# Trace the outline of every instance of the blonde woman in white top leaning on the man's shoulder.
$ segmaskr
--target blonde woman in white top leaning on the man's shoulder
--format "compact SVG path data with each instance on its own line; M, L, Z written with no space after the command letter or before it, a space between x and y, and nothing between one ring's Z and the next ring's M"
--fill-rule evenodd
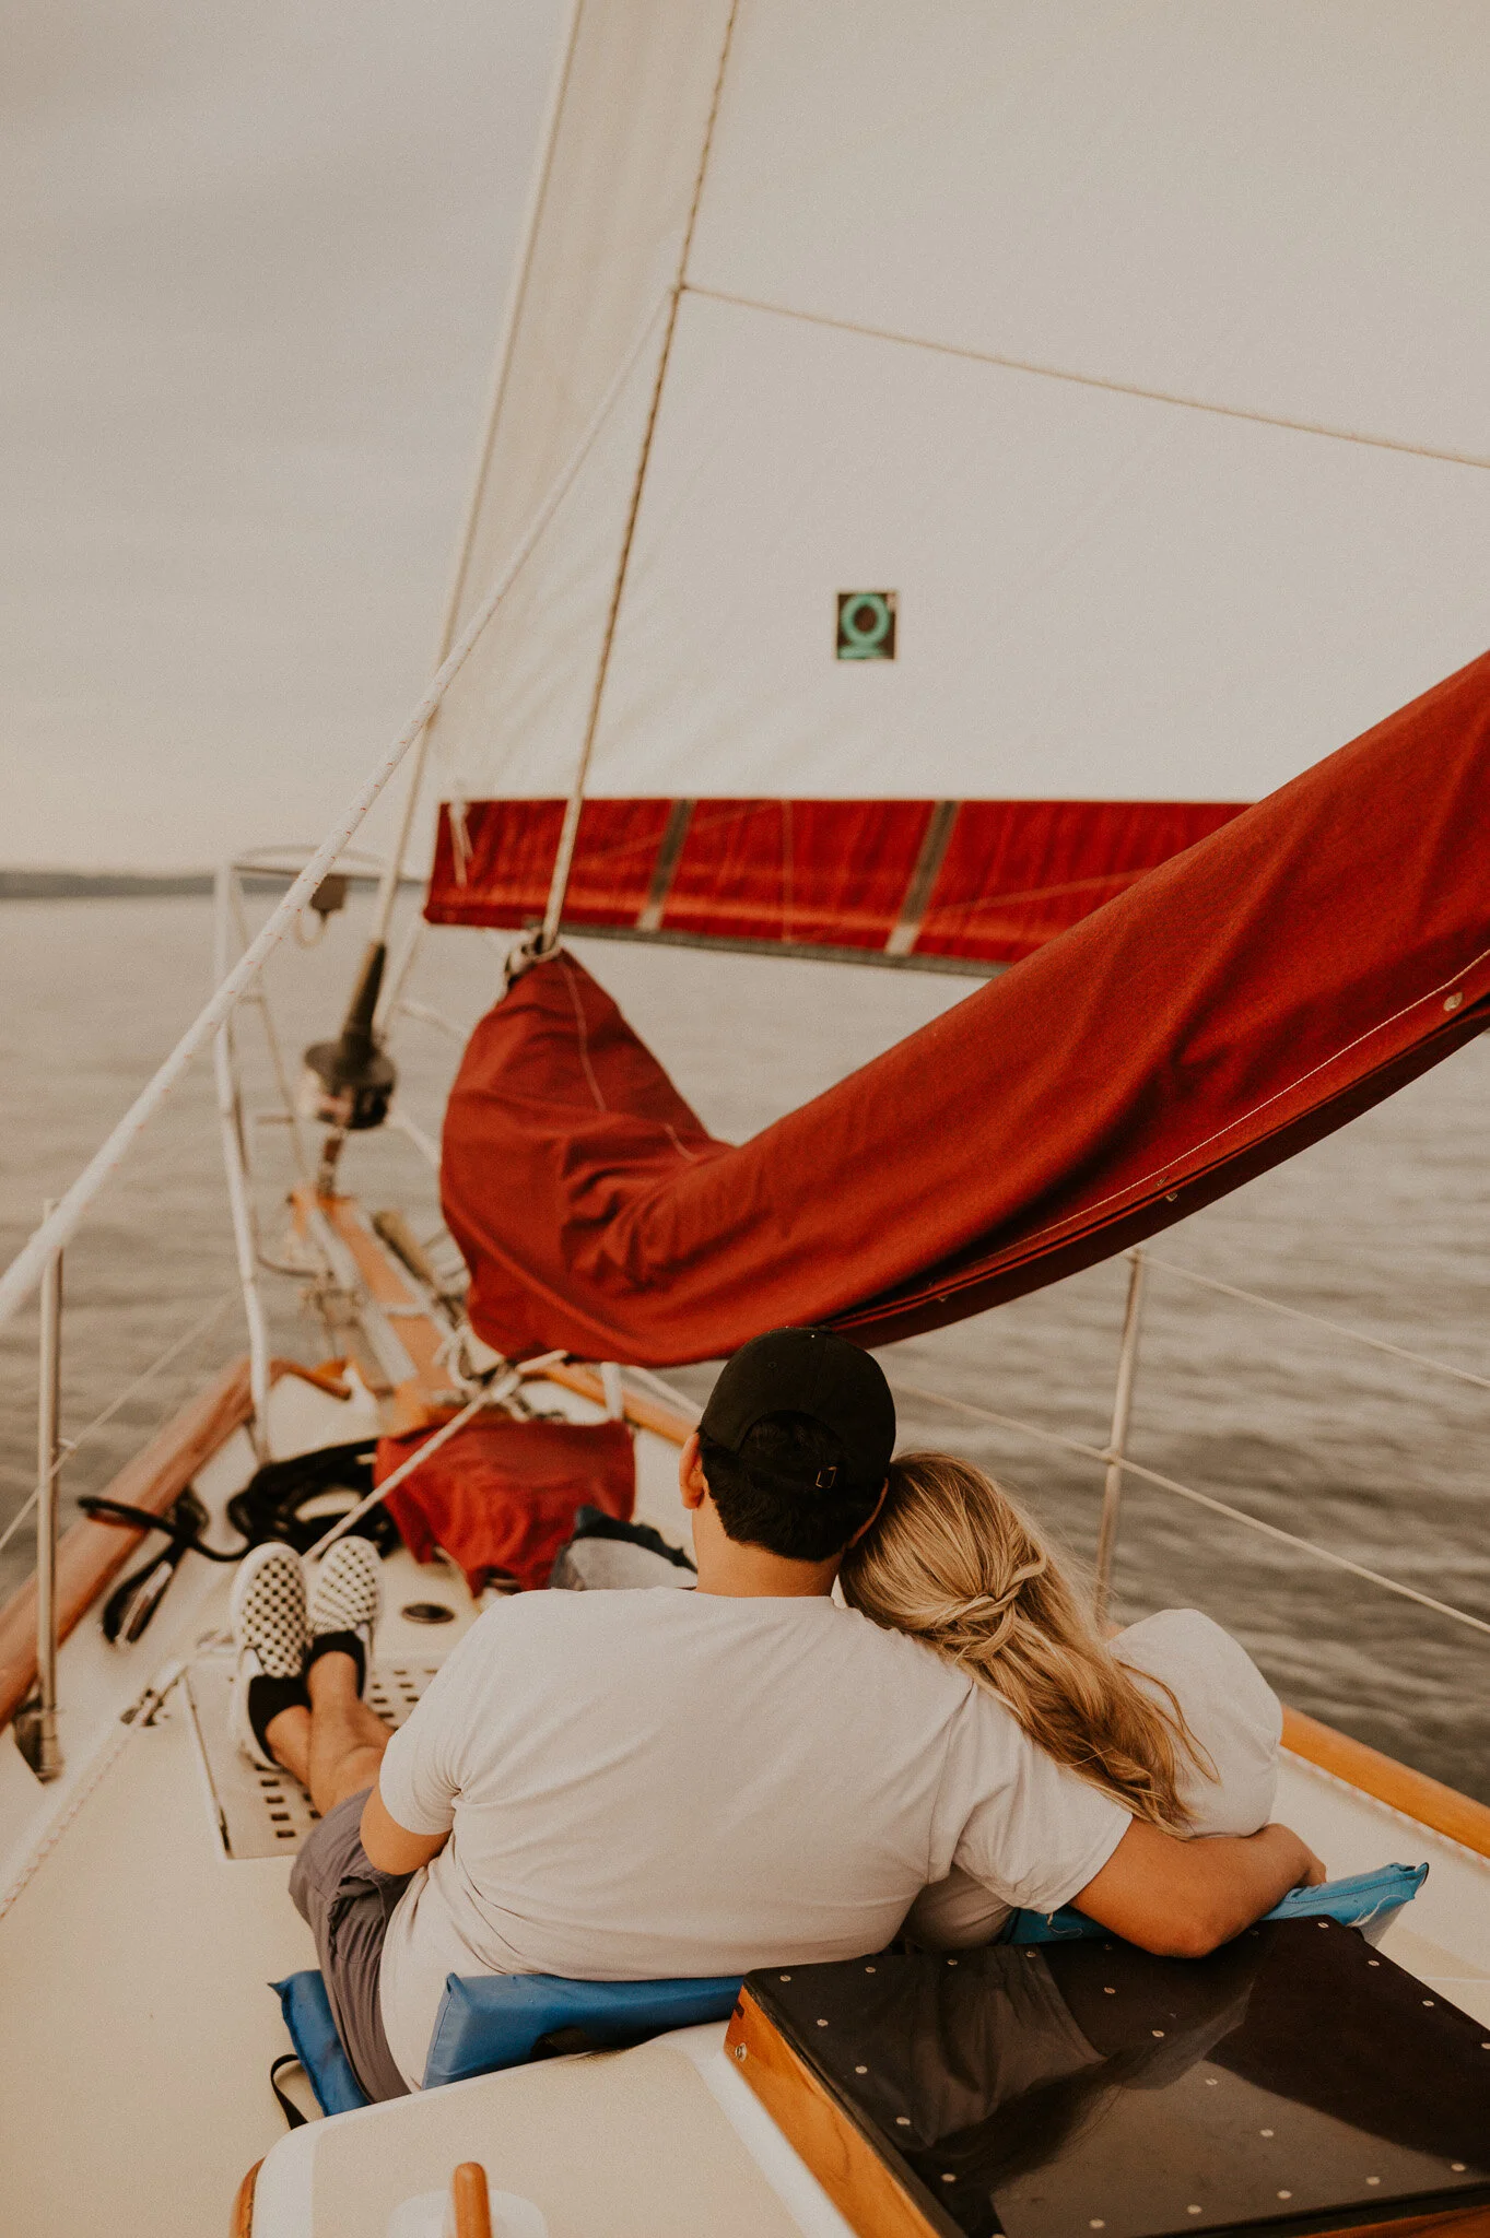
M1029 1517L969 1461L893 1461L839 1582L852 1609L998 1694L1047 1755L1137 1819L1186 1835L1269 1822L1282 1710L1251 1656L1197 1609L1105 1643ZM917 1898L906 1934L964 1949L1002 1920L1005 1907L953 1871Z

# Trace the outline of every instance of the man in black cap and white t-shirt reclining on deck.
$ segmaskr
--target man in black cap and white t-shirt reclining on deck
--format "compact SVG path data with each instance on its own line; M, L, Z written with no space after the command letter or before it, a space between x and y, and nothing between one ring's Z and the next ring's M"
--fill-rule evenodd
M360 1701L369 1549L322 1569L304 1696L275 1692L300 1681L239 1623L246 1717L324 1813L291 1896L369 2097L418 2088L447 1974L850 1958L953 1864L1007 1905L1078 1902L1145 1949L1201 1954L1322 1878L1284 1826L1179 1842L1134 1824L996 1696L830 1600L893 1444L870 1354L758 1336L682 1448L698 1589L508 1600L394 1737ZM282 1553L260 1551L280 1602Z

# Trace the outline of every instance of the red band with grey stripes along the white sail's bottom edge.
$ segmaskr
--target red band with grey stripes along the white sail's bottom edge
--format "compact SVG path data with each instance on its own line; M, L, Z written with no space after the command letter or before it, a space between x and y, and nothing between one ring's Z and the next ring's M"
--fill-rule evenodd
M1018 962L1235 801L586 801L564 924L931 967ZM544 918L564 801L441 808L432 924Z

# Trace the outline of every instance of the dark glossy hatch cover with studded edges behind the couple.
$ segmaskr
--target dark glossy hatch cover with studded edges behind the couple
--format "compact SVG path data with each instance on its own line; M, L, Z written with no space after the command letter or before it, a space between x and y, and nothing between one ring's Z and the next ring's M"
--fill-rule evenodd
M1490 2030L1349 1927L998 1945L747 1987L946 2234L1329 2229L1490 2200Z

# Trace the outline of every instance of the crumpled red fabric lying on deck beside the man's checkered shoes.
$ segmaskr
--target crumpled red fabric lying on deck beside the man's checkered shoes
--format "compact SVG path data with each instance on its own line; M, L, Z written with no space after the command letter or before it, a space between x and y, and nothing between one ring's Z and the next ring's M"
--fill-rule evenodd
M427 1437L378 1439L374 1482L392 1477ZM443 1546L472 1593L492 1578L517 1578L524 1591L548 1585L582 1506L631 1517L635 1452L624 1421L479 1417L387 1495L414 1560L427 1562Z

